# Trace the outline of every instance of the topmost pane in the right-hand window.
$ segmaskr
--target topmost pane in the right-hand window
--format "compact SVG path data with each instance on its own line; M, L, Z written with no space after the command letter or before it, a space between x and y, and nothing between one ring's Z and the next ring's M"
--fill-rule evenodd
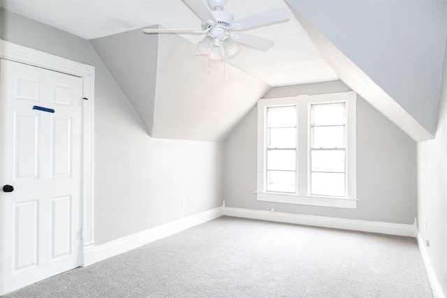
M326 103L323 105L312 105L312 125L337 125L345 123L344 103Z

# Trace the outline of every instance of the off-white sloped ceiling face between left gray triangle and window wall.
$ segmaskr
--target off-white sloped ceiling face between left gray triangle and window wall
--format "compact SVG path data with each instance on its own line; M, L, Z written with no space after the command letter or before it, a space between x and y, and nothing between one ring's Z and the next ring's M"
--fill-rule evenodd
M152 137L223 141L270 89L230 64L192 56L196 45L175 34L159 34L158 52Z

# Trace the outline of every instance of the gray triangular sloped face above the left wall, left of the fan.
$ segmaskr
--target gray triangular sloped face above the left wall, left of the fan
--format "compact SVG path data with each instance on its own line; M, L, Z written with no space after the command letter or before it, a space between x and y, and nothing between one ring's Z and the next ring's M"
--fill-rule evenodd
M126 31L90 43L150 132L154 126L158 39L141 32Z

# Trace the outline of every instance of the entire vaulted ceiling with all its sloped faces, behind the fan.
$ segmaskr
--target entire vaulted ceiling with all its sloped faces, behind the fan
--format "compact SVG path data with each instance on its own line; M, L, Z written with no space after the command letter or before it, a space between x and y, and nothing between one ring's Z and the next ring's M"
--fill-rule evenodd
M197 55L200 29L180 0L11 1L6 10L90 40L152 137L221 141L271 87L343 80L414 140L434 134L447 35L445 1L230 0L235 19L284 7L274 40L226 61Z

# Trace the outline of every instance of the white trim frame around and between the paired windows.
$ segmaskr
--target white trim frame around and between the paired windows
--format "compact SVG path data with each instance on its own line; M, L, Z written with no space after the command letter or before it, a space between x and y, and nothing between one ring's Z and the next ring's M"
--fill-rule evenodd
M325 207L357 208L356 190L356 99L353 91L321 94L300 95L287 98L262 98L258 101L258 186L256 196L258 201L281 202L288 204L306 204ZM322 195L309 195L309 106L316 103L346 103L346 197L330 197ZM306 164L307 167L298 167L297 193L274 193L266 191L266 121L268 107L281 107L287 105L298 107L298 165Z

